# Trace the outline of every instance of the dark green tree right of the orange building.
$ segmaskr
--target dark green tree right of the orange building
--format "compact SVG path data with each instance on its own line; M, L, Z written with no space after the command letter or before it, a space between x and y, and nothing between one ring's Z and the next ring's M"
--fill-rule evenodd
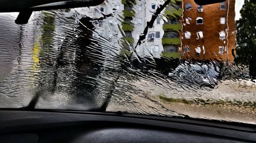
M237 24L236 63L249 65L249 74L256 76L256 0L245 0Z

